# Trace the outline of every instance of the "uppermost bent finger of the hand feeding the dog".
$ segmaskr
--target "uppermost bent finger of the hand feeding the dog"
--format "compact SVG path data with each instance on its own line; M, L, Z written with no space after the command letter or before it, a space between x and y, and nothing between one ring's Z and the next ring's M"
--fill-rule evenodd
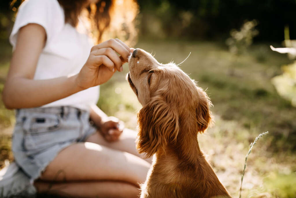
M128 56L130 54L130 50L128 50L126 47L124 47L120 42L116 41L115 39L110 39L105 42L102 42L98 45L95 45L91 51L101 49L101 48L107 48L111 47L115 52L120 54L126 61L128 60Z

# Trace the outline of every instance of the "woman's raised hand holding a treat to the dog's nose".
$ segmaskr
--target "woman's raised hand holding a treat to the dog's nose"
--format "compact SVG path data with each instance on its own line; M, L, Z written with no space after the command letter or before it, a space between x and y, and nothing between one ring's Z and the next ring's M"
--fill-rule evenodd
M130 48L119 39L110 39L95 45L76 77L77 86L87 89L107 82L116 70L123 71L122 64L128 61L130 53Z

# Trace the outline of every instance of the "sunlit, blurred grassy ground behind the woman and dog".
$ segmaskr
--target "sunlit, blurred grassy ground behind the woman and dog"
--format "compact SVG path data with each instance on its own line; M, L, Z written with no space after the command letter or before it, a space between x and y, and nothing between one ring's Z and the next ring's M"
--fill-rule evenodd
M276 45L276 44L275 44ZM0 91L8 71L11 48L1 46ZM181 64L198 85L206 89L214 107L215 124L198 135L214 171L233 197L238 197L245 155L255 137L269 131L252 149L243 181L242 197L296 197L295 107L282 99L271 84L281 74L280 66L291 61L276 54L269 44L252 46L247 53L233 55L224 43L186 41L140 41L136 47L159 62ZM101 86L99 107L136 129L136 113L141 105L117 72ZM0 101L0 165L12 160L10 137L14 112Z

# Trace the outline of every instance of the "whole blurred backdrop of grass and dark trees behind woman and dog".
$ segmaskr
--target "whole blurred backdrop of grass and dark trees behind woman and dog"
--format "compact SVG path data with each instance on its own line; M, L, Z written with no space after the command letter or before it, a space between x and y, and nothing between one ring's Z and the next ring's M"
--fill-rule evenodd
M8 37L20 0L0 1L0 92L9 69ZM181 69L207 90L215 125L198 136L234 197L296 197L295 0L138 0L134 47ZM280 54L269 47L288 47ZM279 50L278 50L279 51ZM128 72L127 65L124 73ZM141 108L122 73L101 86L98 106L136 129ZM14 111L0 100L0 169L13 160Z

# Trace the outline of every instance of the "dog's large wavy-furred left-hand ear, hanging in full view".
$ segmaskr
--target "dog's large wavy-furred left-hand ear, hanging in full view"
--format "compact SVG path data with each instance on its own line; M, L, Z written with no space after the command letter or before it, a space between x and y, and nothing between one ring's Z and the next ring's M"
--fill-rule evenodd
M174 142L179 132L178 113L159 99L149 102L138 113L137 150L152 156L168 142Z

